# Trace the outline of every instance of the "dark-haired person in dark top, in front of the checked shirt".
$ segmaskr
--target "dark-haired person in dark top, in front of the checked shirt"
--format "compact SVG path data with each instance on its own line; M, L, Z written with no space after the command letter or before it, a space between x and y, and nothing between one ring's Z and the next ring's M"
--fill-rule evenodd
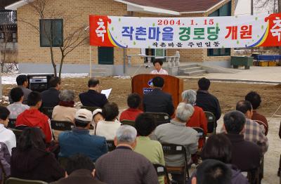
M234 110L223 117L223 129L232 144L231 164L241 171L249 171L259 166L261 147L244 139L246 119L242 112Z

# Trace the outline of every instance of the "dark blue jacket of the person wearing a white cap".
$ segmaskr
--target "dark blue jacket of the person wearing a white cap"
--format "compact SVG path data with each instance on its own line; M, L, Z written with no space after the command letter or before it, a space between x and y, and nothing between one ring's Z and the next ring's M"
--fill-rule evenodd
M105 138L92 136L86 129L72 129L72 131L62 132L58 136L58 143L60 144L59 157L71 157L81 153L96 162L96 159L107 153Z

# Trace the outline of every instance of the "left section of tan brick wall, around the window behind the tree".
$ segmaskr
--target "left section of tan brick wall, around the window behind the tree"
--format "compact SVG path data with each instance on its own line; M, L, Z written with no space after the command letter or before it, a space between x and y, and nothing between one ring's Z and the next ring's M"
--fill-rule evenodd
M70 23L66 23L64 27L64 34L75 30L78 27L89 25L89 15L115 15L122 16L126 15L126 5L118 3L112 0L48 0L47 1L46 18L61 18L60 15L65 20L70 20ZM52 16L51 8L53 8L55 15ZM18 8L18 45L19 53L18 60L20 63L50 63L51 55L50 48L41 48L39 42L39 33L34 27L28 25L25 22L30 22L32 25L39 27L39 16L34 16L36 13L29 6L25 5ZM21 21L24 20L25 22ZM65 22L64 22L65 23ZM89 40L84 46L79 46L74 51L72 51L65 58L65 63L72 64L87 64L89 63L90 48ZM59 48L54 48L55 61L59 63L60 61L60 50ZM122 48L114 49L114 60L115 64L123 63L123 50ZM126 52L128 54L139 53L140 49L128 49ZM91 47L93 64L98 63L98 48L95 46Z

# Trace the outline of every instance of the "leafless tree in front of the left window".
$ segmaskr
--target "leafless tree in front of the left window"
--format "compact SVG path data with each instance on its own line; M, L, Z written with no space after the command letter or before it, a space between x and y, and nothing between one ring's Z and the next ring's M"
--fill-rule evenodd
M56 69L56 62L54 59L54 53L53 50L55 47L53 47L53 37L51 35L51 28L48 27L45 23L41 24L41 34L43 34L44 38L48 41L48 46L50 48L50 54L51 54L51 63L53 65L53 73L55 74L55 77L61 77L61 72L63 68L63 62L65 60L65 57L74 51L75 48L82 46L86 44L86 40L89 38L89 32L86 32L86 25L81 25L76 28L70 28L70 24L72 20L74 20L73 15L66 15L66 13L62 11L58 11L55 9L51 4L48 4L48 0L25 0L33 10L34 13L36 13L39 16L40 20L46 20L46 19L54 19L54 18L61 18L63 19L63 40L60 42L60 69L59 74L57 75L57 69ZM19 20L22 22L25 22L27 25L30 25L33 27L38 34L40 34L40 27L38 25L34 25L34 23L29 22L27 20Z

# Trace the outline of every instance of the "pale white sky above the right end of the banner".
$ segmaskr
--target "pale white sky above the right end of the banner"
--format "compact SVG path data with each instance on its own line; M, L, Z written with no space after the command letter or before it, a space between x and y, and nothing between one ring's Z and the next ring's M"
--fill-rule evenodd
M274 0L268 0L269 4L266 7L258 8L261 4L258 1L266 0L254 0L254 14L259 13L273 13ZM238 0L237 7L235 9L235 15L250 15L251 14L251 0Z

